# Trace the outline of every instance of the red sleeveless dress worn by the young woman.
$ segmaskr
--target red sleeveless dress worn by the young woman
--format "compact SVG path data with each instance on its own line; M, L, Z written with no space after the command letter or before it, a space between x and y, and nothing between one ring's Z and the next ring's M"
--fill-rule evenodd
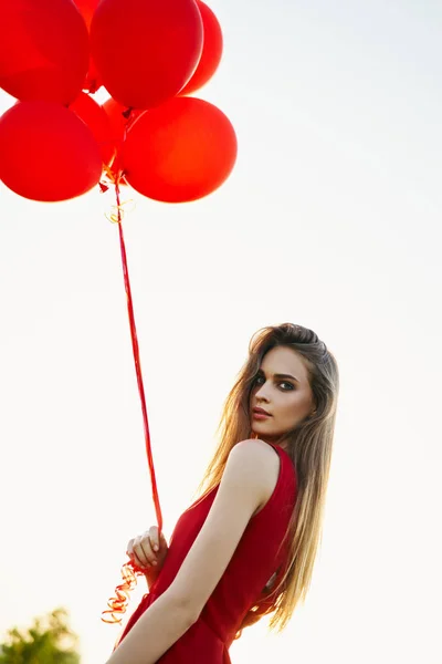
M265 584L287 561L286 547L276 558L296 499L296 473L288 454L271 444L280 455L280 475L264 507L249 521L217 588L199 619L157 661L158 664L231 664L229 647L249 610L256 605ZM119 642L139 616L173 581L200 531L217 495L218 486L178 519L161 572L130 616ZM197 501L196 501L197 502Z

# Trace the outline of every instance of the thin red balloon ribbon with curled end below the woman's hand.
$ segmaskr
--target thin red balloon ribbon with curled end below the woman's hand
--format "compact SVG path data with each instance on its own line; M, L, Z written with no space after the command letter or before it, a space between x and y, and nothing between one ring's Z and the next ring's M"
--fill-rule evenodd
M139 359L139 346L138 346L137 330L136 330L136 324L135 324L130 279L129 279L129 273L128 273L128 268L127 268L126 246L125 246L123 224L122 224L122 221L123 221L123 205L124 204L122 205L120 197L119 197L119 177L115 178L115 194L116 194L116 203L117 203L117 205L115 206L116 211L109 216L109 219L110 219L110 221L118 224L118 230L119 230L119 243L120 243L122 259L123 259L123 274L124 274L126 297L127 297L127 310L128 310L129 322L130 322L130 335L131 335L135 369L136 369L137 382L138 382L138 391L139 391L139 395L140 395L140 400L141 400L143 422L144 422L145 439L146 439L146 452L147 452L147 459L148 459L148 464L149 464L150 479L151 479L151 486L152 486L152 498L154 498L155 511L156 511L156 516L157 516L158 531L159 531L159 533L161 533L161 531L162 531L162 513L161 513L161 507L160 507L159 498L158 498L157 480L155 477L154 458L152 458L151 445L150 445L149 423L148 423L148 417L147 417L145 388L144 388L143 373L141 373L141 362ZM123 582L123 584L117 585L115 589L115 593L117 596L110 598L108 600L107 605L109 606L109 610L103 611L103 613L102 613L103 622L106 622L106 623L120 623L122 622L122 614L126 612L126 606L127 606L127 602L129 599L129 592L137 584L137 579L135 575L136 572L138 574L143 574L143 572L140 570L138 570L131 561L126 562L122 567L122 578L123 578L124 582ZM106 614L110 614L112 620L105 620L103 618L103 615L106 615Z

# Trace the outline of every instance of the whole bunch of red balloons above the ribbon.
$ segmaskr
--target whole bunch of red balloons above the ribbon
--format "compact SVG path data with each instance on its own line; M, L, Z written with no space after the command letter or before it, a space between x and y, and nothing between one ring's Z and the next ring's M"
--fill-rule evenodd
M0 179L66 200L103 172L167 203L217 189L236 158L229 118L186 96L215 72L222 33L201 0L0 0ZM93 94L104 86L110 98Z

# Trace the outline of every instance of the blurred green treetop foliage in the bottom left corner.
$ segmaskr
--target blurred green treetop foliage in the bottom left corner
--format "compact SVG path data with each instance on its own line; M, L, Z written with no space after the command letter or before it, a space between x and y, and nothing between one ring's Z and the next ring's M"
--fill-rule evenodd
M25 632L9 630L0 644L0 664L78 664L77 641L67 625L67 611L55 609L43 620L35 618Z

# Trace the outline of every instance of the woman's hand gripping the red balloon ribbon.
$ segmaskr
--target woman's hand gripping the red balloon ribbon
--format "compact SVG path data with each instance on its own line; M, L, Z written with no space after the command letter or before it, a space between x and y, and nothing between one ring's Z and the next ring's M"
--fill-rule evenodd
M169 548L165 536L158 537L158 526L151 526L143 535L133 538L127 544L127 556L145 574L150 588L157 579L166 560Z

